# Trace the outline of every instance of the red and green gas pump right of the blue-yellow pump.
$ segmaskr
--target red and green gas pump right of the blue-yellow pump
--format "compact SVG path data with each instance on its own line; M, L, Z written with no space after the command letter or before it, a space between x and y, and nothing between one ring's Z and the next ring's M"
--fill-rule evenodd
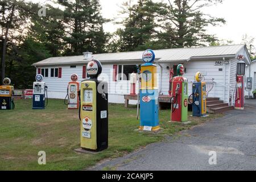
M183 77L184 67L177 66L177 75L172 80L171 121L188 121L188 80Z

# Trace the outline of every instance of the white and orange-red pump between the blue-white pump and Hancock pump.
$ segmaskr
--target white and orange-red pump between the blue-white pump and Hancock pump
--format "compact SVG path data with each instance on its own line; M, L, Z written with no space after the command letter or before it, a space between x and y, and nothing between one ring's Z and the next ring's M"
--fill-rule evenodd
M68 83L67 96L65 97L64 104L68 105L68 109L79 109L79 89L80 84L77 82L78 76L74 73L71 75L71 82ZM68 104L66 100L68 98Z

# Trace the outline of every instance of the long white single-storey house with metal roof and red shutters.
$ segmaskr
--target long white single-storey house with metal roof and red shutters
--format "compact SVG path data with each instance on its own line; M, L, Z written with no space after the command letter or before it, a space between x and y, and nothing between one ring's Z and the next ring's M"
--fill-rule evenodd
M236 90L236 71L239 61L237 56L243 55L245 63L251 64L244 45L162 49L154 52L155 64L158 65L159 94L168 95L169 69L175 69L178 64L183 64L184 76L190 83L189 93L192 93L195 73L201 71L205 81L208 82L208 97L219 97L230 105L234 102ZM98 59L103 67L100 79L109 82L109 102L124 103L123 96L130 93L129 74L137 72L137 66L143 64L142 53L143 51L101 53L90 55L87 59L82 55L51 57L33 65L37 68L37 73L42 73L44 76L49 98L64 99L71 74L77 73L79 81L82 81L86 78L86 64L92 58ZM131 102L131 104L135 103Z

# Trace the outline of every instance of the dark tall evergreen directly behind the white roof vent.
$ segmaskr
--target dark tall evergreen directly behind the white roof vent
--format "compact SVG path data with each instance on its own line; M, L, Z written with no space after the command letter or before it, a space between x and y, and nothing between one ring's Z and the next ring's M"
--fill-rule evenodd
M65 7L64 19L67 36L65 55L81 55L82 52L105 52L107 35L103 24L101 6L98 0L59 1Z

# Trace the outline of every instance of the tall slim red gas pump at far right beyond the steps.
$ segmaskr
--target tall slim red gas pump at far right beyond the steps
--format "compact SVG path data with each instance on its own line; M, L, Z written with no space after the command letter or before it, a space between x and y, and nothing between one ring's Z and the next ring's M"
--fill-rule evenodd
M239 57L239 56L238 56ZM242 59L242 56L241 56ZM243 77L245 76L245 62L240 60L237 63L237 86L235 109L245 109L245 88Z

